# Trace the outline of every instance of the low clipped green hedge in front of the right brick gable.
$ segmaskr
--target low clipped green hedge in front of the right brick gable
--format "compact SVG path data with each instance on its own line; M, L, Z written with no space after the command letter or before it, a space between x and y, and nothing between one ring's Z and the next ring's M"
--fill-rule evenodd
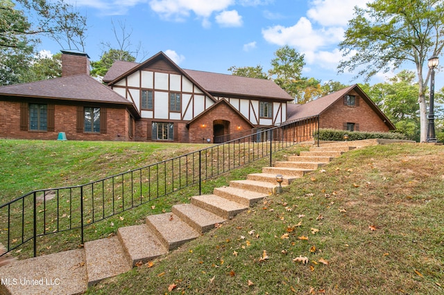
M344 135L348 135L348 141L361 141L363 139L383 138L383 139L407 139L404 134L395 132L358 132L339 129L319 129L320 141L344 141ZM318 138L318 132L314 132Z

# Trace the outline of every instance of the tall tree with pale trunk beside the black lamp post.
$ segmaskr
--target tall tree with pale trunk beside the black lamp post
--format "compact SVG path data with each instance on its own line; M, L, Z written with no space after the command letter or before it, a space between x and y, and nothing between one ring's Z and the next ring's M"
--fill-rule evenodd
M420 141L427 137L425 92L430 76L424 66L444 46L444 2L442 0L375 0L366 8L355 8L345 38L339 44L343 57L339 71L355 71L366 80L379 71L398 69L405 62L416 66Z

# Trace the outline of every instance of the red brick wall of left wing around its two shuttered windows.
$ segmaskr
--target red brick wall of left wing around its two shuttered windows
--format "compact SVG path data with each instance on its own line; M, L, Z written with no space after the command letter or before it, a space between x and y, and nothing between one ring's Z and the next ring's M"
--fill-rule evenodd
M54 132L20 130L20 102L0 101L0 137L20 139L56 140L59 132L65 132L68 140L128 141L129 114L126 109L107 107L107 133L77 133L76 105L56 105Z

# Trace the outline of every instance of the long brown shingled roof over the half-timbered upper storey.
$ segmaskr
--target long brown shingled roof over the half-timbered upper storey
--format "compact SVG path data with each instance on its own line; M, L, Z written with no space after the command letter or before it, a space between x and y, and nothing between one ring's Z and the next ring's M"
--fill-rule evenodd
M184 71L210 93L293 100L289 93L272 80L187 69Z

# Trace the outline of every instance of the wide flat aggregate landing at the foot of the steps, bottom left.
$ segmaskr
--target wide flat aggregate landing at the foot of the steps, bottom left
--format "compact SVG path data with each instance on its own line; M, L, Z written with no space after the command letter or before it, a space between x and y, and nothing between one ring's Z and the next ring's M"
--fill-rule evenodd
M0 294L83 294L86 268L84 249L14 260L0 267Z

